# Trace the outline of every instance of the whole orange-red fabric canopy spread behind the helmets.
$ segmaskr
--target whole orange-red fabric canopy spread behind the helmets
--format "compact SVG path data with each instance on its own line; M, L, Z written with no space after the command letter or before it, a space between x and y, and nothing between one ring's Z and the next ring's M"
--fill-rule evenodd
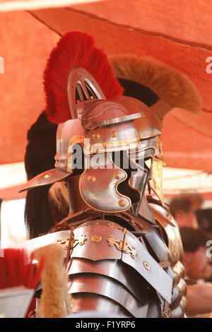
M60 35L88 32L108 55L146 55L187 74L201 94L203 112L195 117L175 109L167 115L162 136L165 161L167 166L211 172L212 66L206 61L212 57L212 4L116 0L31 13L34 17L0 14L0 57L5 62L5 73L0 74L1 163L23 160L26 131L45 105L42 71L56 40L49 27Z

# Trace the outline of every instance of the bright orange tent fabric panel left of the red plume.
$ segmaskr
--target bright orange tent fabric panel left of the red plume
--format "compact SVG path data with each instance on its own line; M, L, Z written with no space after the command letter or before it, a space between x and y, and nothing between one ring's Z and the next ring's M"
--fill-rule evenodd
M45 107L42 72L55 36L29 13L0 13L0 163L23 161L27 131Z

